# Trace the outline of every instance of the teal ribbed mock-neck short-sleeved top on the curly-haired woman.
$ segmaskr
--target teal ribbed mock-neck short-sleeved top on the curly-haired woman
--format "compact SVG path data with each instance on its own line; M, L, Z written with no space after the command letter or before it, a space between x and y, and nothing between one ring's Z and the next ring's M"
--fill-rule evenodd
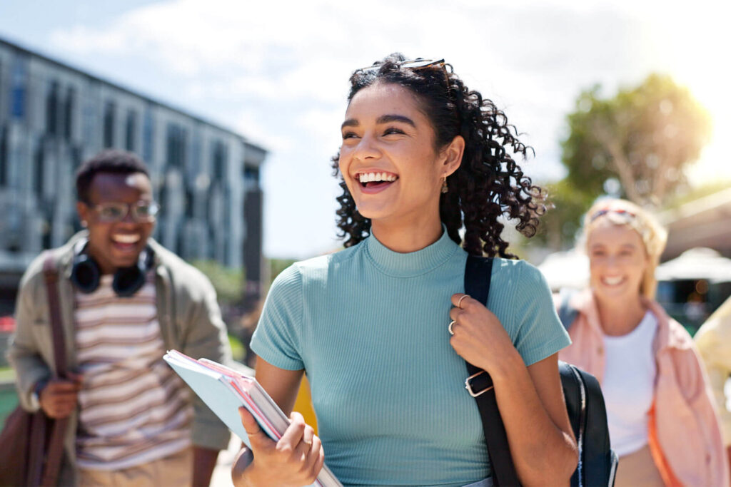
M325 463L344 485L458 487L490 476L447 332L466 258L446 232L413 253L371 235L274 281L251 348L306 369ZM531 264L496 258L488 307L527 365L570 343Z

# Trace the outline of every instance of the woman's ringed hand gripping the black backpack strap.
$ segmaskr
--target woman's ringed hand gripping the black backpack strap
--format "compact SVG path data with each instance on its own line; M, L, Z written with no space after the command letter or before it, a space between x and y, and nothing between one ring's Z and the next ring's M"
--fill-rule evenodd
M485 305L466 294L452 295L452 305L452 348L475 367L491 375L498 372L509 362L507 356L516 353L502 323Z

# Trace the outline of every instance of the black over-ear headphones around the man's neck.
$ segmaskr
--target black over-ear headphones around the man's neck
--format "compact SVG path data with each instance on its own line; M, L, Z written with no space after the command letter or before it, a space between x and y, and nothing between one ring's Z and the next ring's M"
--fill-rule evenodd
M85 294L93 293L99 287L99 280L102 278L102 271L94 258L88 255L86 248L88 240L82 239L74 245L74 263L71 269L71 282L79 291ZM112 289L117 296L127 298L145 285L148 270L151 268L153 250L147 246L140 253L137 265L118 269L114 273Z

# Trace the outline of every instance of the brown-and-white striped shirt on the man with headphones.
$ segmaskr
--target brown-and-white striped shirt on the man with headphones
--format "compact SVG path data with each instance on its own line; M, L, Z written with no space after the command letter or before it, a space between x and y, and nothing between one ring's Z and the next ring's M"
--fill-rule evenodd
M154 273L129 298L112 275L91 294L75 294L76 349L83 375L76 437L78 465L122 469L188 448L189 391L162 360Z

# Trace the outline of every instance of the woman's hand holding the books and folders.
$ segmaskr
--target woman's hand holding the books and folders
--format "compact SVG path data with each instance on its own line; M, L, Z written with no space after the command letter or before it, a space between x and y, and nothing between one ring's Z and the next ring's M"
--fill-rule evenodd
M262 431L245 408L239 408L241 424L249 434L254 459L240 475L236 486L308 486L317 479L325 462L322 443L300 413L292 413L287 430L278 442ZM238 478L237 478L238 477Z

